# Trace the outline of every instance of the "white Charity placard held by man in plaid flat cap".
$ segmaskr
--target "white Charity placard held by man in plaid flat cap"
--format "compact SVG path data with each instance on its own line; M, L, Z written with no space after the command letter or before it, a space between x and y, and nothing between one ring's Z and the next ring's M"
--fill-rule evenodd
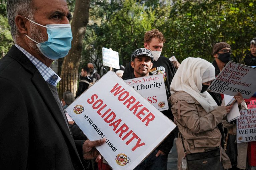
M124 80L159 111L168 110L163 74Z

